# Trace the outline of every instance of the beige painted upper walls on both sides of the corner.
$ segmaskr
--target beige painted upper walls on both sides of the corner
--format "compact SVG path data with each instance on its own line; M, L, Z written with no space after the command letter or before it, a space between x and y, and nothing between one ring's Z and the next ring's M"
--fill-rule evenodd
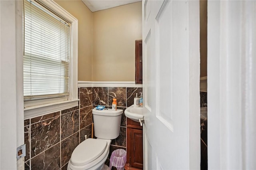
M81 0L55 0L78 19L78 81L135 81L142 2L92 13Z

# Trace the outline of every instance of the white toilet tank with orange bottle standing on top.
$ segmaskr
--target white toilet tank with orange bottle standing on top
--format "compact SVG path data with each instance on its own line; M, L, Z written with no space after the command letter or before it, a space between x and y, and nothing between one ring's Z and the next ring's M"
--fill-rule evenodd
M94 135L102 139L115 139L120 134L120 125L123 110L92 109Z

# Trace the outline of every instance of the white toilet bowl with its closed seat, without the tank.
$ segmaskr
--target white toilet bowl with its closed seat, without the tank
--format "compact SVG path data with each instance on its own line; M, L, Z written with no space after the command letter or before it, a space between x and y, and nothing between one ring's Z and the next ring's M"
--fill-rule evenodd
M111 141L110 141L111 142ZM104 165L105 160L108 157L109 153L109 142L102 139L94 139L94 138L88 138L81 142L73 151L71 158L68 163L68 170L96 170L101 169L101 164ZM81 148L80 145L82 144ZM96 150L92 152L89 152L89 150L93 150L92 148L95 148ZM102 150L102 148L104 148ZM85 151L87 150L87 152ZM100 154L100 155L99 155ZM82 156L83 158L78 158ZM92 156L93 155L93 156ZM99 155L99 156L98 156ZM92 158L93 157L93 158ZM79 161L76 159L78 158ZM85 159L85 160L82 160ZM87 162L87 163L86 163ZM78 165L80 164L80 165Z

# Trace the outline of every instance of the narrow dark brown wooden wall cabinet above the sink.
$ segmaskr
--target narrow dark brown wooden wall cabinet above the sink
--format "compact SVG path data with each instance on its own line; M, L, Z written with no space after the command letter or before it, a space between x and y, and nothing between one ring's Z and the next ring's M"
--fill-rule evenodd
M142 84L142 40L135 41L135 83Z

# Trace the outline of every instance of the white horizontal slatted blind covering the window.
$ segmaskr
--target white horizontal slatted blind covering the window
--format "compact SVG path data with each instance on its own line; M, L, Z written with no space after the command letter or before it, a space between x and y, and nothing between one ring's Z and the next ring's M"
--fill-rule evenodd
M70 26L24 0L24 100L68 95Z

